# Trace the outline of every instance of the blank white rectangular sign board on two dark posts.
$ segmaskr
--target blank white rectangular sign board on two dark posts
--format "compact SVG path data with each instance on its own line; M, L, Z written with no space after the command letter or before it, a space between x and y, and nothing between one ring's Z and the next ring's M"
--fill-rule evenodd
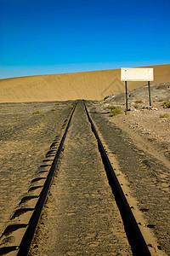
M153 81L153 68L121 68L121 81Z

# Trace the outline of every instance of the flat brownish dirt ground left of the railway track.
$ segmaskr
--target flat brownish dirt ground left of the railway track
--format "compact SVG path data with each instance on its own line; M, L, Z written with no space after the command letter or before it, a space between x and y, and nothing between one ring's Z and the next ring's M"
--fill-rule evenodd
M0 105L0 234L31 186L54 137L62 135L72 102L55 104Z

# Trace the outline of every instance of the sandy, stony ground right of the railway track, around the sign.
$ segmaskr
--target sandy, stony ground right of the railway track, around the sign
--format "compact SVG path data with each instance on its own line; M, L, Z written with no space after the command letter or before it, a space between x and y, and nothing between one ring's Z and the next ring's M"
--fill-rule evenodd
M137 207L155 232L162 250L169 255L170 108L164 108L163 102L170 98L170 86L161 84L161 88L156 88L157 85L151 91L151 107L148 97L144 96L147 88L143 88L133 91L133 99L128 102L131 111L127 114L111 117L106 108L108 105L125 108L122 95L115 96L115 99L114 96L107 97L102 102L88 102L88 108L108 152L116 156L131 189L130 195L138 200ZM122 100L122 104L120 101L117 104L116 97ZM138 105L137 108L134 105ZM167 118L162 118L165 113Z

